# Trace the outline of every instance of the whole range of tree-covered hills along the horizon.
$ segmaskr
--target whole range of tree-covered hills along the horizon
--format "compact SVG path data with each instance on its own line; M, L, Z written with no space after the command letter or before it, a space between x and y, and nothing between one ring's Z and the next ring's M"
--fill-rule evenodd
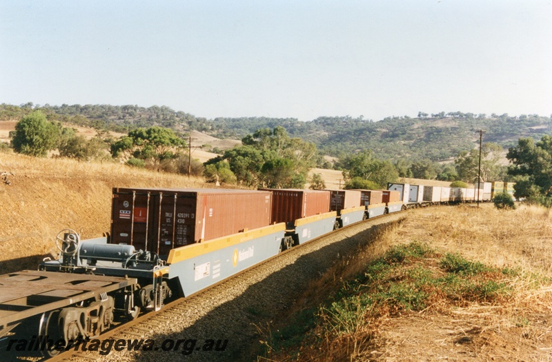
M0 120L20 119L26 112L37 108L57 121L115 132L161 125L185 134L198 131L226 140L213 139L210 142L208 137L204 137L194 143L210 145L210 150L215 151L233 147L259 128L272 129L281 125L291 137L311 141L323 154L333 157L372 150L380 159L407 161L451 159L464 150L477 147L479 130L486 131L484 142L496 142L506 149L515 145L520 137L540 139L544 134L552 133L551 119L537 114L486 116L462 112L431 115L420 112L420 117L416 118L387 117L377 122L363 117L318 117L302 122L293 118L267 117L206 119L157 105L144 108L138 105L39 106L28 103L21 106L1 104Z

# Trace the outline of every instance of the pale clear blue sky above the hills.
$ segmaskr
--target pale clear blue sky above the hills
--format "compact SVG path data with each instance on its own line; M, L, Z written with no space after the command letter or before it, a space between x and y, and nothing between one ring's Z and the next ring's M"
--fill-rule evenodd
M0 0L0 103L196 117L552 112L552 5Z

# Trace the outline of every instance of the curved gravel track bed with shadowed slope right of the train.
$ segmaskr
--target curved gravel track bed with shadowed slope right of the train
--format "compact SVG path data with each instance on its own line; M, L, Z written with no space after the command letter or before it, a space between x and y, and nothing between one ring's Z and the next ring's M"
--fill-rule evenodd
M155 341L151 351L143 348L129 351L127 343L124 350L111 349L109 353L101 354L101 349L83 350L80 345L77 350L68 350L40 361L239 360L255 349L255 346L249 345L255 341L255 328L262 327L262 323L269 323L274 316L285 312L290 303L298 303L295 299L299 291L308 287L310 281L331 267L339 257L352 252L359 244L368 242L358 241L355 237L362 239L362 235L368 235L373 227L393 223L404 217L404 213L386 214L340 228L286 250L206 290L172 301L158 312L148 312L133 321L117 325L103 332L99 338L100 341L151 339ZM184 350L184 343L194 339L226 340L228 345L223 351L205 352L201 350L201 343L194 343L191 349L188 343L188 349ZM178 340L184 342L177 347ZM163 346L160 341L170 342Z

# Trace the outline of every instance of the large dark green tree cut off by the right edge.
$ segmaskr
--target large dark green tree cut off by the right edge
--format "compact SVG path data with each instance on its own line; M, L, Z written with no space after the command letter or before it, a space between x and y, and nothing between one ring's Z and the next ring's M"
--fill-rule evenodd
M516 177L514 196L552 198L552 136L544 136L535 144L532 138L517 141L517 147L510 148L506 158L512 165L508 174ZM538 192L537 192L538 190Z

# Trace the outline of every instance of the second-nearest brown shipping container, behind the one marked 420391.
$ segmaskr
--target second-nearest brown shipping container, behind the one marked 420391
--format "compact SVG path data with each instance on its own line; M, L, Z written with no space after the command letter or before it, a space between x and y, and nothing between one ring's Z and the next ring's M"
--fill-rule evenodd
M330 212L330 192L325 190L261 189L272 192L272 223L293 223L297 219Z

